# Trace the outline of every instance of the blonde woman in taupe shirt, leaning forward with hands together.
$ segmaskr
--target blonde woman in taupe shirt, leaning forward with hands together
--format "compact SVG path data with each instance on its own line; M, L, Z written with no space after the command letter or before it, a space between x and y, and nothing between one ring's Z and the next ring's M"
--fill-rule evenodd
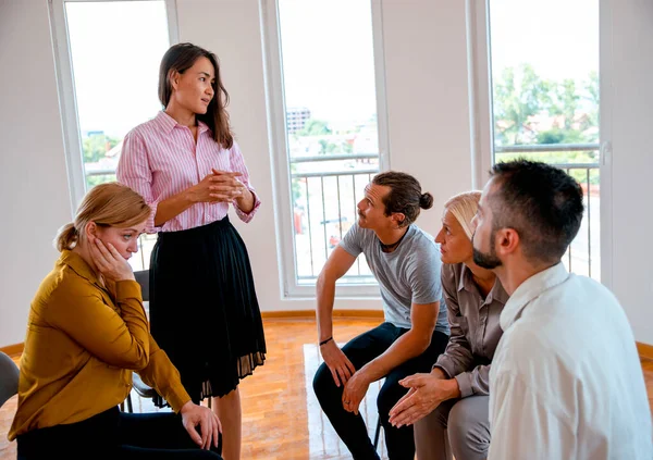
M415 424L419 460L480 460L490 448L489 381L503 332L508 295L498 278L473 263L471 221L480 191L445 203L441 245L442 289L452 335L430 374L402 381L410 388L391 411L391 423Z

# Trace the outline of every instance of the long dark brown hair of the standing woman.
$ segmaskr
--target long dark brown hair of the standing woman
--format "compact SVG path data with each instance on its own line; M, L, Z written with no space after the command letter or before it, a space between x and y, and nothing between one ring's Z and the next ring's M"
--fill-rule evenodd
M195 64L195 61L202 57L213 64L213 71L215 72L214 96L209 102L207 113L197 114L196 116L197 120L209 126L215 142L224 149L230 149L234 145L234 138L229 125L229 113L225 109L229 104L229 92L222 85L220 64L215 54L193 43L178 43L170 47L159 67L159 100L164 108L168 107L172 96L172 83L170 80L172 73L183 74Z

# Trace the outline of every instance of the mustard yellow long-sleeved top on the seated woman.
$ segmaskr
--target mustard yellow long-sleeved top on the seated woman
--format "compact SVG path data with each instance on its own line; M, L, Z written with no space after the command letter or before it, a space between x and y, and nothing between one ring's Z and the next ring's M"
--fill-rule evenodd
M175 412L190 400L149 333L138 283L104 287L84 259L63 251L32 302L9 438L118 406L130 393L133 371Z

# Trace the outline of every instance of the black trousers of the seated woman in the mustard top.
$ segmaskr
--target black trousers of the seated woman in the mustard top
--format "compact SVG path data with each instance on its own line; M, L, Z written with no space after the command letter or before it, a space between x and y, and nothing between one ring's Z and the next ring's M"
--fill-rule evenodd
M172 412L125 413L116 408L82 422L34 430L17 437L19 460L220 460L221 449L199 449L181 417Z

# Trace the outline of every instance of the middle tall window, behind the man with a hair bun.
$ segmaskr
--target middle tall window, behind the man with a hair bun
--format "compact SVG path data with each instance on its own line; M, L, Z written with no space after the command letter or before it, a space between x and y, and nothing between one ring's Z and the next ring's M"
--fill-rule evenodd
M370 0L268 4L286 295L313 290L357 220L365 186L386 166L378 8ZM338 284L375 281L360 257Z

